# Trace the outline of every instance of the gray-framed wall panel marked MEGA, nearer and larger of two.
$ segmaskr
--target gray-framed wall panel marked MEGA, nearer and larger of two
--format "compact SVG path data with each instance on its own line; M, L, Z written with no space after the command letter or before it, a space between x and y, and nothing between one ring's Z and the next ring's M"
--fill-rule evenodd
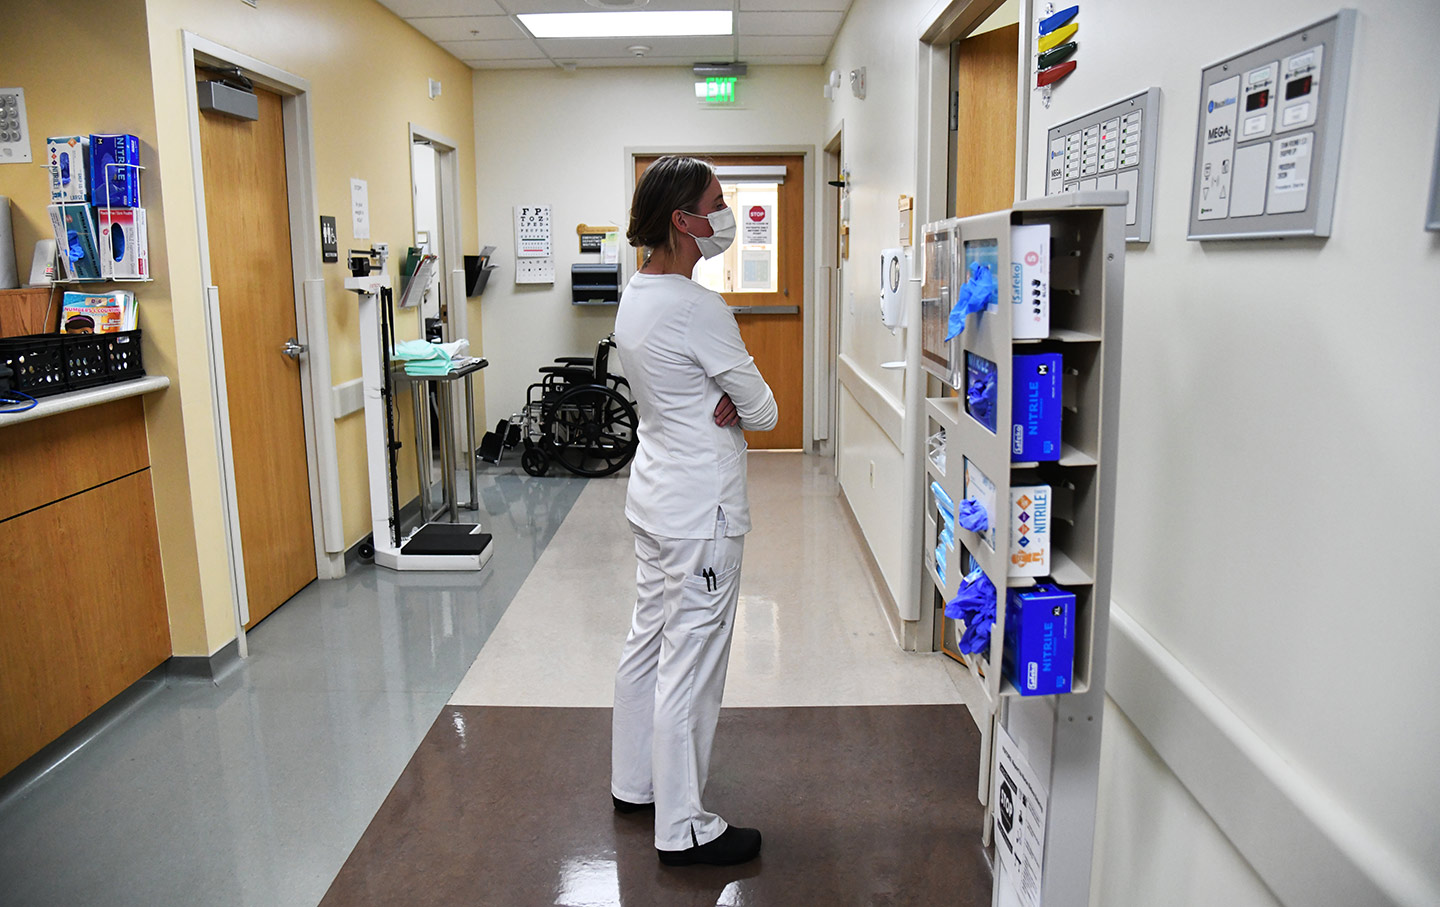
M1355 10L1207 66L1189 239L1329 236Z

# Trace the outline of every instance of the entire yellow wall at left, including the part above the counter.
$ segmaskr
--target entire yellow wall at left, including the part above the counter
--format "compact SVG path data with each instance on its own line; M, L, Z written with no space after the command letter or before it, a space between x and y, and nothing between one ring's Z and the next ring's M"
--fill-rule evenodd
M12 4L14 6L14 4ZM469 69L372 0L22 0L0 30L0 82L26 91L35 164L0 167L12 197L17 261L49 233L45 137L132 132L145 163L156 281L137 285L145 369L170 390L147 399L156 508L174 654L210 655L235 638L223 547L220 466L204 346L203 286L192 170L181 32L189 30L310 82L320 213L333 215L340 248L350 235L350 177L369 181L372 240L403 255L410 243L409 124L459 148L461 246L475 242L475 155ZM59 30L55 22L81 23ZM117 53L122 48L124 53ZM105 78L78 88L58 60L105 60ZM444 94L428 98L428 79ZM318 225L312 229L318 229ZM397 265L396 265L397 269ZM359 327L343 265L325 265L331 379L360 376ZM469 311L480 337L480 308ZM413 337L413 318L400 335ZM327 393L328 387L317 389ZM408 430L402 397L402 432ZM346 543L369 533L363 416L336 425ZM403 435L402 435L403 438ZM413 459L402 464L413 475Z

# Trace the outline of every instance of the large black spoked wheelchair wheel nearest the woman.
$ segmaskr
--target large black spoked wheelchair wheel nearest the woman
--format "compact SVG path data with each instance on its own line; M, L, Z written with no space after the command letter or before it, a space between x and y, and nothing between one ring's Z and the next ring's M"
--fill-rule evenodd
M562 393L546 413L541 435L552 455L570 472L611 475L635 456L639 416L629 400L602 384Z

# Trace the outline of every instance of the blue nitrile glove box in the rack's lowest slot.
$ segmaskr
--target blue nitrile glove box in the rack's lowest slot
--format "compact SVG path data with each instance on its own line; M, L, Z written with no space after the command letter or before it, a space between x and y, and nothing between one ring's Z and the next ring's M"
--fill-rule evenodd
M1076 596L1051 583L1005 596L1004 672L1021 695L1070 692L1076 658Z

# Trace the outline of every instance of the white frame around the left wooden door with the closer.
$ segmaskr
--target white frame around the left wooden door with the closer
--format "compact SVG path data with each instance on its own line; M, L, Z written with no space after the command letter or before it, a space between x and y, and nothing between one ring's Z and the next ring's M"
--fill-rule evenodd
M204 166L200 153L196 63L238 66L256 85L279 94L282 99L295 328L300 343L308 347L308 354L301 360L300 386L305 425L305 465L310 474L310 514L315 541L315 573L320 579L334 579L344 576L346 546L340 515L340 466L336 452L330 377L330 330L325 317L325 282L320 261L320 202L311 130L310 82L192 32L181 32L181 39L184 48L181 78L186 82L186 115L190 127L196 243L200 251L200 289L206 299L206 346L210 356L210 393L215 412L216 454L222 477L220 497L226 518L226 550L230 589L235 596L236 636L243 655L246 649L243 626L249 619L245 550L235 495L235 459L230 443L230 407L226 397L219 291L210 275L210 238L204 209Z

